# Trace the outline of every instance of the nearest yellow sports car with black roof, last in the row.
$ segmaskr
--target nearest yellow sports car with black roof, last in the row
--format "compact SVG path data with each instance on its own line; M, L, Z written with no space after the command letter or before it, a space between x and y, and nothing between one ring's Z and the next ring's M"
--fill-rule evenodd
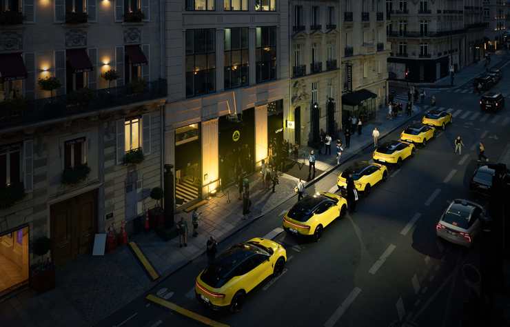
M275 241L258 237L236 244L196 277L196 298L210 308L237 312L249 291L283 272L285 261L287 251Z

